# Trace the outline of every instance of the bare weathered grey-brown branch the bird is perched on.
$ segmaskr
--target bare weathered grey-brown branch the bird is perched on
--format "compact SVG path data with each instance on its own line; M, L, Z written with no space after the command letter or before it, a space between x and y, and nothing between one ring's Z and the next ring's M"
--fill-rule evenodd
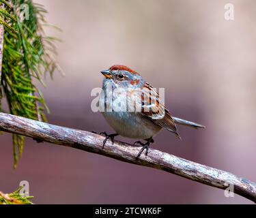
M136 159L141 149L138 146L119 141L115 141L112 144L112 142L108 141L104 149L102 149L104 137L98 134L4 113L0 113L0 130L28 136L38 141L97 153L128 163L164 170L219 189L227 189L233 186L234 193L256 202L256 183L229 172L203 166L200 163L188 161L154 149L150 149L147 157L141 155L139 159Z

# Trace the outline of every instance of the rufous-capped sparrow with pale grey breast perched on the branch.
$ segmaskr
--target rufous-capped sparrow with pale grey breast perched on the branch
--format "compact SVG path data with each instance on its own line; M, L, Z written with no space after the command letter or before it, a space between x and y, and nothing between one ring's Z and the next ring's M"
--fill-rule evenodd
M101 73L104 80L99 99L100 112L116 132L110 135L101 133L106 136L103 149L106 141L111 139L113 142L115 136L145 140L145 143L134 142L142 146L137 155L139 158L144 150L147 156L150 143L154 142L153 137L163 128L171 131L177 138L180 135L176 123L195 129L205 128L201 124L171 116L156 89L133 69L124 65L113 65Z

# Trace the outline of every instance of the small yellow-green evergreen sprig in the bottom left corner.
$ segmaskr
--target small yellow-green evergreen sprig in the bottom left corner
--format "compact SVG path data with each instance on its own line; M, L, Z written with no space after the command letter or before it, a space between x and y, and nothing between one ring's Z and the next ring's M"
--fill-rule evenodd
M9 194L3 194L0 191L0 204L33 204L29 199L33 198L32 196L23 197L20 196L20 189L23 187L20 187L17 191L14 191L14 193Z

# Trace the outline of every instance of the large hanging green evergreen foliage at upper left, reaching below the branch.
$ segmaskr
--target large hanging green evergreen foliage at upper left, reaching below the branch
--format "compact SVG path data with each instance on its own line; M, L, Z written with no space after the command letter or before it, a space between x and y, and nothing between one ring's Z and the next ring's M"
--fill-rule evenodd
M11 114L46 121L48 108L35 80L44 84L46 72L52 76L53 37L46 37L46 10L31 0L0 0L0 25L4 27L0 100L5 97ZM27 17L25 16L27 13ZM28 19L27 19L28 18ZM1 104L0 104L1 111ZM13 136L14 168L23 153L24 136Z

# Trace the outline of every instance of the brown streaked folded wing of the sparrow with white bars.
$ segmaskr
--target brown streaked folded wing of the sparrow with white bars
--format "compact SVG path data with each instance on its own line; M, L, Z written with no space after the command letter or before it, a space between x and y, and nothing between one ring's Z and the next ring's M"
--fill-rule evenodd
M150 84L146 82L141 93L136 91L136 95L141 98L141 114L143 116L180 138L169 110L162 104L157 91Z

